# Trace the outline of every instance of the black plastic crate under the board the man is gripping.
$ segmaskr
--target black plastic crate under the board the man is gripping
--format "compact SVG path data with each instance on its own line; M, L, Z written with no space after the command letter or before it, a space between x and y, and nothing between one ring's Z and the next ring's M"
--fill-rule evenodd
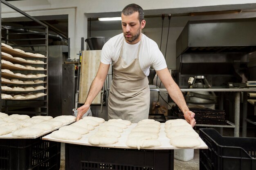
M173 170L173 150L65 144L65 170Z

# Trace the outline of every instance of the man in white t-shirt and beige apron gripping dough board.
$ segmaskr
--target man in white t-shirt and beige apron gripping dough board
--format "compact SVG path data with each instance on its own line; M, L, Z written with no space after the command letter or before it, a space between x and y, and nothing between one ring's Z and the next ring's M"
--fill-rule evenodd
M137 4L127 5L121 12L123 33L104 44L101 63L85 104L78 108L77 120L90 108L101 91L112 61L113 77L108 98L108 118L137 123L148 119L150 90L149 68L152 65L168 94L184 113L186 121L195 126L195 113L189 111L180 88L171 77L164 56L157 44L141 33L145 27L144 11Z

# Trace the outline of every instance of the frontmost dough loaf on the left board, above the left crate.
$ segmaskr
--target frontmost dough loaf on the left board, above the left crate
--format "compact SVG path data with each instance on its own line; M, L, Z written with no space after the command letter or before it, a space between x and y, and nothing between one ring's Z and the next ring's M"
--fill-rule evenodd
M44 132L42 129L38 128L20 128L18 130L15 130L12 132L12 136L17 136L17 137L27 137L27 136L37 136L40 135Z

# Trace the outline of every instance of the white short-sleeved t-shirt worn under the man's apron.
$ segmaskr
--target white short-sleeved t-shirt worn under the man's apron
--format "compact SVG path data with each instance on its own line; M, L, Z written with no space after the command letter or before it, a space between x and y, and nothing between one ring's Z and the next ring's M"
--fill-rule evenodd
M111 61L112 64L117 62L120 56L121 45L123 41L124 49L122 58L126 64L130 64L130 62L137 57L139 43L142 43L139 51L139 64L141 66L141 70L146 76L149 75L150 66L153 66L156 71L167 67L164 55L159 50L155 41L142 34L140 42L137 44L128 44L124 40L124 33L110 38L110 40L104 44L101 51L101 62L103 64L110 64Z

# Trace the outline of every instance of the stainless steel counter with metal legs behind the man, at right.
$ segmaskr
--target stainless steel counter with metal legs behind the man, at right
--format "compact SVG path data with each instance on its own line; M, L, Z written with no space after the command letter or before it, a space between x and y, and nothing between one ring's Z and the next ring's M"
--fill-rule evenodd
M248 92L256 92L256 88L181 88L183 92L198 92L198 91L216 91L216 92L234 92L234 117L235 117L235 128L234 137L239 137L239 121L240 121L240 92L245 92L244 101L247 101ZM150 91L166 91L166 88L150 88ZM246 137L247 133L247 102L243 102L243 137Z

